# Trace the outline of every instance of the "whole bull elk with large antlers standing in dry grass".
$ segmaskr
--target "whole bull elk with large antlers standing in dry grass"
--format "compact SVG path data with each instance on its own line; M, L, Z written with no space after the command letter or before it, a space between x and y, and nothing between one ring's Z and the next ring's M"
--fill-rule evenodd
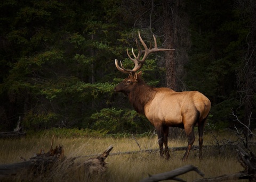
M124 93L129 98L133 108L139 114L145 115L151 124L154 125L158 136L161 157L165 154L166 159L170 158L167 145L169 126L184 128L188 136L188 146L182 160L188 158L189 151L195 141L194 127L198 126L199 158L201 158L203 131L206 118L211 109L211 102L198 91L175 92L169 88L154 88L142 80L142 72L137 73L137 71L141 69L150 53L174 50L157 48L156 37L154 35L153 37L155 47L151 48L150 46L148 48L139 32L139 39L145 50L141 50L140 44L136 39L138 55L136 56L132 49L134 58L130 56L127 49L127 55L135 65L132 70L124 68L121 62L120 67L117 59L115 60L117 70L128 73L129 76L119 83L114 90ZM143 58L141 59L142 54Z

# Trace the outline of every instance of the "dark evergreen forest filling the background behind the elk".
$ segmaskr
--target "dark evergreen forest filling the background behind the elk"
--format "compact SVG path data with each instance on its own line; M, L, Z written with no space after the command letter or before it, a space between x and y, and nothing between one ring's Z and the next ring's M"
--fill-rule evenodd
M154 33L158 47L175 49L175 86L165 53L146 60L142 76L148 84L205 94L215 129L237 125L233 112L253 129L255 11L255 2L239 0L3 0L0 131L12 131L20 116L26 131L151 131L148 120L114 92L126 77L115 59L133 67L126 48L136 48L139 30L147 45Z

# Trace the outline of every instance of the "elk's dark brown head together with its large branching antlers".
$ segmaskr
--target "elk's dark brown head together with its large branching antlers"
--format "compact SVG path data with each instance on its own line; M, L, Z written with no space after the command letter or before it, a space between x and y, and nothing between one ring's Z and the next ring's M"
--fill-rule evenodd
M148 57L148 55L150 53L155 53L157 51L166 51L166 50L174 50L174 49L159 49L157 48L157 43L156 43L156 37L153 34L153 38L154 38L154 42L155 42L155 47L152 48L151 44L150 47L148 48L147 45L145 44L145 42L142 40L141 36L140 36L140 31L139 31L139 39L141 44L143 45L145 50L142 50L140 48L140 43L137 41L137 39L135 39L137 48L138 48L138 55L136 56L134 54L133 48L132 48L132 54L134 56L134 58L132 58L128 52L128 49L126 50L128 57L133 61L134 63L134 68L132 70L126 69L123 67L122 62L120 62L121 67L118 65L118 60L115 60L115 64L116 64L116 68L117 70L121 71L122 73L128 73L129 76L124 79L121 83L119 83L116 87L115 87L115 91L116 92L123 92L126 95L128 95L130 93L130 91L133 89L134 85L140 82L143 82L140 79L140 75L141 75L141 71L139 73L137 73L138 70L140 70L146 60L146 58ZM144 54L144 55L143 55ZM143 55L143 58L141 59L141 56ZM144 83L144 82L143 82Z

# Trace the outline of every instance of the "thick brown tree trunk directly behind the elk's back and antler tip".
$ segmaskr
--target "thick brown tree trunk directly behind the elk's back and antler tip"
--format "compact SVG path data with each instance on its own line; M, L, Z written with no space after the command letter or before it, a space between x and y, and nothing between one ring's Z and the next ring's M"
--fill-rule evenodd
M187 24L185 13L182 13L183 18L179 15L179 12L182 11L180 10L181 7L185 7L185 1L183 0L165 0L163 2L164 47L167 49L175 49L175 51L165 52L166 86L174 91L183 90L179 89L181 86L178 86L177 78L182 77L182 74L184 74L183 64L187 59L186 48L190 47L188 33L185 30ZM180 40L178 40L178 33ZM169 136L177 139L181 136L185 136L185 133L179 128L170 127Z

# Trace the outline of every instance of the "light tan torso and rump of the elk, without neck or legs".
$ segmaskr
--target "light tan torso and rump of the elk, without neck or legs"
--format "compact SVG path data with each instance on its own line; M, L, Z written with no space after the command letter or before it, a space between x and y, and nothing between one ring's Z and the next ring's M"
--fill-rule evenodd
M156 94L145 106L145 116L155 125L158 121L167 126L183 125L182 116L191 118L199 111L199 121L206 118L211 102L198 91L175 92L168 88L155 88Z

